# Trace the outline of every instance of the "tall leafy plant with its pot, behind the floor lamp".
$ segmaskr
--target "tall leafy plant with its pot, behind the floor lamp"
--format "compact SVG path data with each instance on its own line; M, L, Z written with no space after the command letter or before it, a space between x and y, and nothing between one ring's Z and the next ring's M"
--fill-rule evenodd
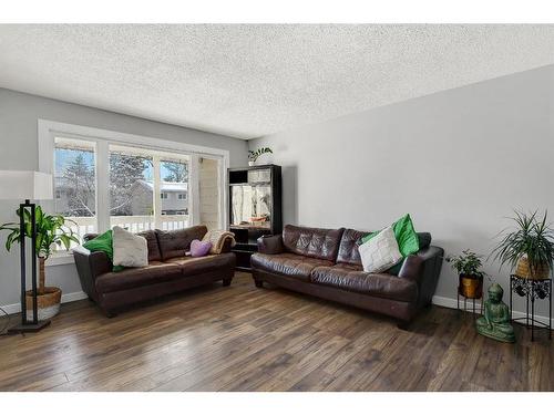
M18 209L17 214L19 217L23 215L25 225L24 236L30 238L31 212L27 209L23 209L23 212L21 212L21 209ZM79 239L71 229L65 227L65 222L70 220L64 219L63 216L45 215L40 206L34 208L34 215L37 228L37 246L34 249L37 256L39 257L38 319L47 320L54 317L60 311L62 291L58 287L45 287L44 262L52 255L53 249L57 246L63 246L68 250L71 242L73 241L79 243ZM21 241L22 236L19 224L3 224L0 226L0 230L10 231L6 240L6 249L8 251L11 249L13 243ZM32 291L27 291L25 301L28 310L32 310ZM32 320L32 313L28 314L28 319Z

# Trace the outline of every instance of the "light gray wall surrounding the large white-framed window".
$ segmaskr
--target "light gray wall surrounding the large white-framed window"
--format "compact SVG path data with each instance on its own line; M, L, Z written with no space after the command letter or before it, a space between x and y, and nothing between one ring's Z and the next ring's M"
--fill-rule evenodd
M247 164L240 139L0 89L0 169L38 169L38 118L223 148L229 151L230 166ZM16 220L14 209L0 200L0 224ZM0 305L19 302L18 250L7 253L4 240L0 235ZM81 291L73 264L49 267L47 281L64 293Z

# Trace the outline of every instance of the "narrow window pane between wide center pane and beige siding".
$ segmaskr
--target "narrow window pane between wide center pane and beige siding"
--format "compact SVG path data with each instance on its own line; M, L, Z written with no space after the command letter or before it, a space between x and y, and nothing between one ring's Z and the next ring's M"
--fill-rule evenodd
M162 229L181 229L189 226L188 167L186 156L160 159Z

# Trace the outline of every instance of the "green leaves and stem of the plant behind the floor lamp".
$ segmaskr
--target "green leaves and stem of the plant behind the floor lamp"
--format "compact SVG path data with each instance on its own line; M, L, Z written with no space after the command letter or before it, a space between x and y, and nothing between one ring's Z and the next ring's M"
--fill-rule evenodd
M6 249L8 251L11 250L14 243L19 243L22 237L31 238L31 211L28 209L21 211L21 208L19 208L17 214L20 218L23 215L24 236L21 235L19 222L8 222L0 226L0 231L7 230L10 232L6 239ZM41 293L44 290L44 260L52 255L53 246L63 246L68 250L72 241L79 243L79 238L66 227L66 222L76 225L72 220L68 220L59 215L45 215L40 206L34 208L34 216L37 229L37 245L34 250L41 262L39 288L39 293Z

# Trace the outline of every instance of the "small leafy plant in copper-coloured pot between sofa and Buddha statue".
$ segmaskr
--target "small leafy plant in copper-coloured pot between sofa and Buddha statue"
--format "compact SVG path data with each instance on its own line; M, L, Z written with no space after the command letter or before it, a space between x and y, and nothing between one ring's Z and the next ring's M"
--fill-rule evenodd
M458 272L460 294L466 299L480 299L483 295L483 277L485 276L481 270L483 266L481 256L466 249L462 251L462 255L448 258L447 261Z

